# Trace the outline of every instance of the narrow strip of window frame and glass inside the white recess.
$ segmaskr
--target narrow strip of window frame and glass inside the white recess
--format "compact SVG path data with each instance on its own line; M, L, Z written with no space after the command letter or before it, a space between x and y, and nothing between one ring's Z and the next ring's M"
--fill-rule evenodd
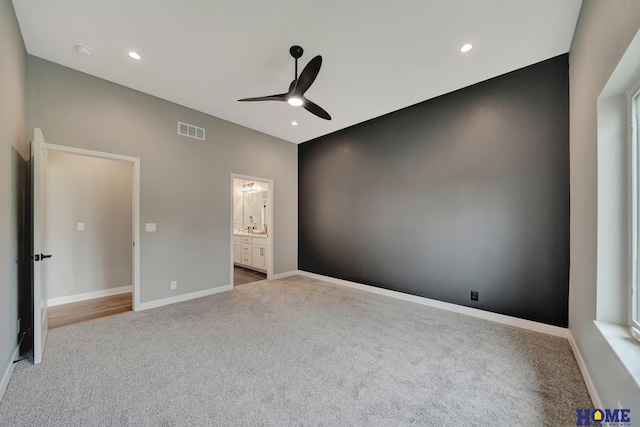
M629 298L629 326L631 334L640 341L640 129L638 120L640 118L640 80L630 91L629 110L631 112L631 291Z

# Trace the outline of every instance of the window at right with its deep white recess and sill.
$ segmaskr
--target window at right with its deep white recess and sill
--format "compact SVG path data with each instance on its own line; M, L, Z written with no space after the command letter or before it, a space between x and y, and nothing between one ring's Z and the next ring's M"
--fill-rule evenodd
M597 98L594 324L633 387L640 387L640 136L638 125L632 132L630 125L640 124L639 98L640 30ZM629 339L632 334L638 341Z

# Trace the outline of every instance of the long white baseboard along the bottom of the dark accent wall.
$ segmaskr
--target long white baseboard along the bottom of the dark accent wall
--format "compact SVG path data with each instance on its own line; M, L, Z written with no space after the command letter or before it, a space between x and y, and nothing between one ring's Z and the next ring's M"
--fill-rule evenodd
M520 319L518 317L506 316L504 314L492 313L490 311L479 310L477 308L465 307L463 305L451 304L448 302L438 301L430 298L419 297L416 295L405 294L389 289L377 288L375 286L363 285L361 283L350 282L348 280L336 279L334 277L323 276L320 274L309 273L307 271L298 270L294 274L311 277L313 279L322 280L340 286L359 289L361 291L371 292L374 294L385 295L391 298L410 301L417 304L427 305L429 307L440 308L442 310L453 311L455 313L465 314L467 316L477 317L480 319L490 320L504 325L515 326L517 328L528 329L543 334L554 335L561 338L567 338L569 330L559 326L547 325L546 323L534 322L532 320Z

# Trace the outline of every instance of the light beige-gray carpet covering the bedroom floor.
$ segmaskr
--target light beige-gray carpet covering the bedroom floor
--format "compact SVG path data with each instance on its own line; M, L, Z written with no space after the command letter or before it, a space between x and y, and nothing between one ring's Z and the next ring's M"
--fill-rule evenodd
M301 276L50 332L11 426L575 426L566 340Z

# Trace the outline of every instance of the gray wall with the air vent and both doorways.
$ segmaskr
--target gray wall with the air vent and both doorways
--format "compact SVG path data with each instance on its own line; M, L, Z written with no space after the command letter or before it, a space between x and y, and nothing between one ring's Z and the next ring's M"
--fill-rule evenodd
M232 283L231 173L275 181L274 273L297 268L296 145L32 56L27 117L48 143L141 159L142 302Z

